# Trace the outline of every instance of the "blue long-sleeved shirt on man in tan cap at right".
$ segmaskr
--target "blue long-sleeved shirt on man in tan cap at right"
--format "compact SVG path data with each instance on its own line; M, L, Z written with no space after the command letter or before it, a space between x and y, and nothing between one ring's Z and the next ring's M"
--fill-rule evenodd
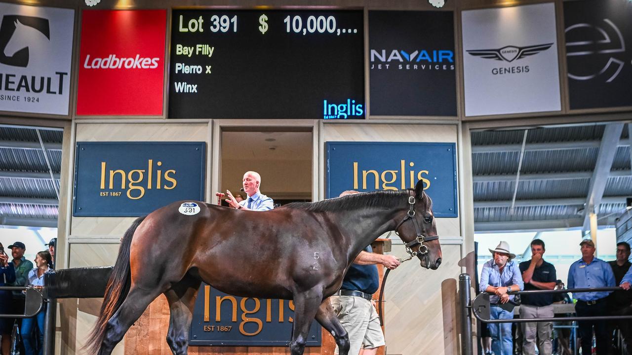
M582 259L571 264L568 269L569 289L584 289L588 287L614 287L614 274L609 263L604 260L593 258L590 264L586 264ZM596 301L602 299L612 291L600 292L573 292L573 298L581 301Z

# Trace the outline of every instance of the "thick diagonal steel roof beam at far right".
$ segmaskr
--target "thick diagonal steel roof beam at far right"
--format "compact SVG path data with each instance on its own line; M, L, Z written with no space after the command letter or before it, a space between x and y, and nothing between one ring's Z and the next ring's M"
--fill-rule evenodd
M614 155L617 152L617 146L623 132L624 123L606 124L604 135L599 145L599 153L597 154L597 163L593 170L593 176L590 179L590 187L588 188L588 196L586 197L586 208L584 208L583 229L590 229L590 214L599 209L599 205L604 196L605 184L614 162ZM628 139L629 141L629 139ZM627 143L627 142L626 142ZM626 145L629 145L627 143Z

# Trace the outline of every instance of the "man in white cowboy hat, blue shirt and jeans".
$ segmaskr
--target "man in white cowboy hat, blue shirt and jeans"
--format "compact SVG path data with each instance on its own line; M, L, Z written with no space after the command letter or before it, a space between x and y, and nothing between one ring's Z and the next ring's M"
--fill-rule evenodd
M479 291L493 293L489 298L492 319L512 319L513 312L501 308L500 304L513 301L514 296L509 296L507 292L522 291L525 287L518 263L512 261L516 255L509 251L506 241L501 241L494 250L489 251L494 257L483 265ZM512 355L511 323L490 323L488 327L494 354Z

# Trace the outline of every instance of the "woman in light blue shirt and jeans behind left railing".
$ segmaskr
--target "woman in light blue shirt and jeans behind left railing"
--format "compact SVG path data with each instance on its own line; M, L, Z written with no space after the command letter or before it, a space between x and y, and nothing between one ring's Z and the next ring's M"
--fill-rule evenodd
M49 263L51 262L51 253L47 250L40 251L35 256L35 265L28 272L28 280L24 286L35 287L41 290L44 287L44 274L49 270ZM44 304L42 310L37 315L31 318L24 318L22 320L21 335L24 342L24 350L26 355L35 355L36 353L42 355L42 346L44 345L44 318L46 317L46 304ZM33 342L33 335L35 335L35 326L37 326L39 333L37 341ZM36 351L37 349L37 351Z

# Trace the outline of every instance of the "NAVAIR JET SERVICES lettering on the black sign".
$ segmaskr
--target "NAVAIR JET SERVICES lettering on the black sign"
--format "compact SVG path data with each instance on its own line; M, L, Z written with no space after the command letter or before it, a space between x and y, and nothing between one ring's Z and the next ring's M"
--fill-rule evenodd
M378 62L377 64L375 62ZM391 67L392 64L393 65ZM371 49L371 69L426 69L426 70L454 70L454 52L433 50L406 52L392 49Z

